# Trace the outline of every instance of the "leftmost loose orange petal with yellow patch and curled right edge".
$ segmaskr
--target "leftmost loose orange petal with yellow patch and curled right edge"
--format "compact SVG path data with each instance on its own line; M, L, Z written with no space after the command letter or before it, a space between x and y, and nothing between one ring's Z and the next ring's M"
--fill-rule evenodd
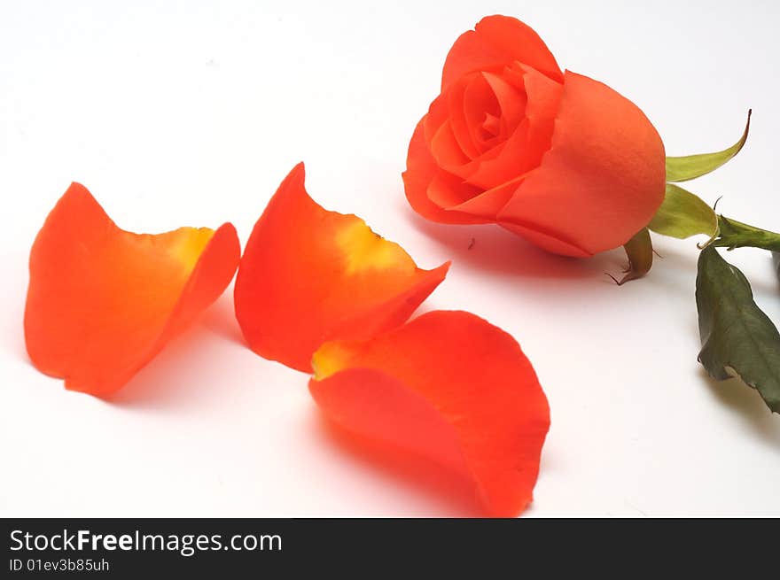
M239 256L229 223L133 234L73 183L30 251L30 359L66 389L110 395L219 298Z

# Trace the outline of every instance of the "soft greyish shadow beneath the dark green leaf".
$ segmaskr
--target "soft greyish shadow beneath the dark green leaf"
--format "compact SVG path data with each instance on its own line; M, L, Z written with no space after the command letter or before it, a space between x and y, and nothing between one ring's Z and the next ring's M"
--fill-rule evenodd
M699 376L723 405L744 419L745 431L780 451L780 417L769 411L758 391L738 378L716 381L704 368L699 370Z

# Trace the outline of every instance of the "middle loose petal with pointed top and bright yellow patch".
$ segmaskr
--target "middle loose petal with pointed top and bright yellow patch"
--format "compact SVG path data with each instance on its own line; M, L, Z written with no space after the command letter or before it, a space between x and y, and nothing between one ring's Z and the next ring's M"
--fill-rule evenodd
M254 352L311 371L327 340L362 339L409 318L449 263L418 268L354 215L308 197L295 166L254 226L238 267L238 323Z

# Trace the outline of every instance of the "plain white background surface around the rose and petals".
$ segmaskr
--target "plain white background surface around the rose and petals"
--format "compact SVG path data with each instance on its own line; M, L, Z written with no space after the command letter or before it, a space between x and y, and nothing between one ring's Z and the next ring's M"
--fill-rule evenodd
M745 150L690 189L780 229L780 4L767 2L26 2L0 4L0 514L472 515L453 493L339 443L307 376L241 343L232 289L106 403L30 366L27 255L71 181L123 228L230 220L246 241L304 160L308 190L421 267L425 305L517 337L552 426L528 515L780 515L780 417L698 365L695 240L658 239L618 288L621 251L561 259L493 227L426 223L402 192L409 136L456 36L524 19L562 67L605 81L669 154ZM476 240L467 250L472 237ZM780 321L768 254L730 259Z

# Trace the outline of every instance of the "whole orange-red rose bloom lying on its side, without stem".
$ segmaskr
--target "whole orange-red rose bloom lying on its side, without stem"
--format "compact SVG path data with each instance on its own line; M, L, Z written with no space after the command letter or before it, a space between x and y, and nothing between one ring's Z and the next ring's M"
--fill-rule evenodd
M664 198L664 161L635 104L561 73L518 19L488 16L449 50L403 182L429 220L497 223L546 250L589 256L648 224Z

